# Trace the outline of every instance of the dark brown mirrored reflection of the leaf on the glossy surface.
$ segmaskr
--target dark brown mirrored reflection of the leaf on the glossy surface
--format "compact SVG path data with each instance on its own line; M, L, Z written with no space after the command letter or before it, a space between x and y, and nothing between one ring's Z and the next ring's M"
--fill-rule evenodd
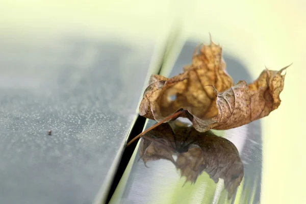
M162 123L146 133L141 141L140 159L145 166L148 161L169 160L192 184L205 171L215 183L224 180L228 198L244 175L239 152L231 141L211 131L200 133L179 121Z

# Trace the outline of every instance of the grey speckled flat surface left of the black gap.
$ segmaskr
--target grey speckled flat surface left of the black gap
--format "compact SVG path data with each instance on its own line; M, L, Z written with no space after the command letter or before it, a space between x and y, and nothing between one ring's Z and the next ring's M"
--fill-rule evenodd
M0 45L1 203L91 203L136 115L153 44Z

